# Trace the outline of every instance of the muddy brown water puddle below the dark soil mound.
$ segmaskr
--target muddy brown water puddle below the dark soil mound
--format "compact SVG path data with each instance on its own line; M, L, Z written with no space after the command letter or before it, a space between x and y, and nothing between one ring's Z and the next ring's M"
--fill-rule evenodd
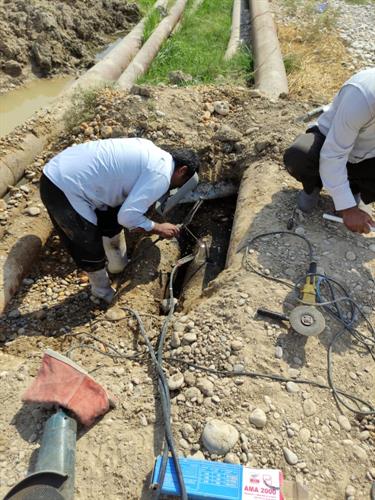
M56 77L33 80L0 96L0 137L11 132L33 113L50 104L73 79Z

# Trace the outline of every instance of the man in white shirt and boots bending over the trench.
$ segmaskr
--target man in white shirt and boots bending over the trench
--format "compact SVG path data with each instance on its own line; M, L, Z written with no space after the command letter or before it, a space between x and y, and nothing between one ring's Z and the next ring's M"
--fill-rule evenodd
M105 268L127 264L123 228L173 238L179 228L145 216L170 188L180 187L199 166L189 149L170 153L147 139L119 138L72 146L44 167L40 194L63 245L88 273L92 294L114 296Z

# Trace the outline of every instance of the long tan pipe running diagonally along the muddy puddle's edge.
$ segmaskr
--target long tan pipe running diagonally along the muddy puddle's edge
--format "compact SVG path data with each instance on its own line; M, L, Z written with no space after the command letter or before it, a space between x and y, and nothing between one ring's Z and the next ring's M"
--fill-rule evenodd
M162 7L166 5L166 1L158 0L154 7ZM45 108L49 110L49 117L52 119L46 132L38 136L27 133L14 151L0 158L0 197L6 194L9 186L17 184L27 166L43 151L48 141L63 131L64 114L74 92L117 80L142 45L144 25L145 19L142 19L103 60L79 77L51 107Z

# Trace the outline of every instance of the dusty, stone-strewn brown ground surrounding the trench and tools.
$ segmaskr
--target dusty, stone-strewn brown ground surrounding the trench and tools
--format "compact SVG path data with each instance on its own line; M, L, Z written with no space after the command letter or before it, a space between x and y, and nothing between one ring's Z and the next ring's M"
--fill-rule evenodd
M297 185L283 170L281 155L295 134L303 130L295 118L306 106L289 100L269 102L242 87L142 88L138 94L147 96L105 91L97 103L95 118L78 127L73 137L54 145L53 151L72 142L117 135L196 147L203 160L205 180L238 182L245 168L252 169L257 187L249 202L249 235L286 229ZM218 100L228 102L227 116L210 112L212 103ZM29 172L29 192L15 190L3 206L0 213L4 229L11 231L9 221L30 204L33 182L51 154L46 151ZM212 228L221 227L231 218L228 205L223 200L216 208L205 206L207 214L212 214ZM41 211L35 217L45 217L42 207L36 208ZM373 238L353 236L342 227L324 224L322 211L330 208L329 200L323 198L313 216L296 214L297 232L303 232L313 243L319 266L345 283L373 320ZM35 219L29 216L27 220L31 231ZM198 217L193 231L202 231L204 220L207 216ZM295 281L305 272L303 246L291 237L269 240L255 250L252 260L270 275ZM175 250L164 248L164 256L165 265L171 268ZM155 338L162 322L158 310L165 272L160 272L160 250L152 257L138 270L129 269L126 278L130 278L130 285L119 305L137 309ZM281 311L295 304L296 299L283 285L245 268L229 268L211 282L188 314L180 305L165 355L218 370L272 372L326 383L327 346L337 324L329 321L329 328L319 338L306 341L286 323L275 324L255 315L259 306ZM4 381L0 389L0 495L24 477L35 462L49 412L38 406L23 406L21 395L35 375L45 348L64 353L80 343L93 345L80 333L89 332L113 343L124 355L144 352L134 320L125 315L113 321L116 311L119 313L118 309L109 312L90 301L85 277L74 269L58 238L52 237L39 264L25 278L0 320L0 377ZM360 327L365 332L363 323ZM100 342L94 341L94 346L106 351ZM116 409L80 434L76 497L149 498L150 472L161 450L162 427L155 376L147 356L115 361L90 349L77 349L72 355L118 399ZM184 455L203 453L209 457L201 434L205 423L214 417L232 424L240 433L226 460L279 467L286 478L303 482L312 499L343 499L349 496L345 495L345 491L350 492L346 490L348 485L354 488L355 499L369 497L370 478L375 478L374 421L355 418L345 411L348 422L343 423L329 391L304 385L298 392L292 386L289 392L290 386L286 390L285 384L262 378L220 377L183 364L166 366L170 375L177 370L184 375L181 387L172 393L173 428ZM335 349L334 378L340 388L374 404L374 363L348 337ZM249 422L255 408L266 413L263 429ZM296 465L285 461L284 447L297 455ZM222 459L215 455L211 458Z

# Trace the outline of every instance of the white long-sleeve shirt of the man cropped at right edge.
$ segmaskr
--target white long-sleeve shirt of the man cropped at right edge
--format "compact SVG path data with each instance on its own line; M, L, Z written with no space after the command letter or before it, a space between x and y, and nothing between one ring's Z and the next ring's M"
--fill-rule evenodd
M346 164L375 157L375 68L350 78L318 119L326 136L320 152L320 177L336 210L356 205Z

